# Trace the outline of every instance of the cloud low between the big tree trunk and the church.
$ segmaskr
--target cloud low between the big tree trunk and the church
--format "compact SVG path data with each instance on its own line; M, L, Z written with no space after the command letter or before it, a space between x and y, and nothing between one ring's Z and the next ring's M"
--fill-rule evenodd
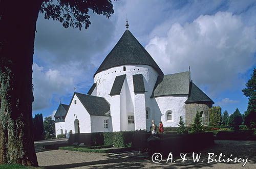
M71 76L61 74L58 70L44 70L37 64L33 64L33 110L46 108L51 105L53 95L64 95L74 87L74 80Z

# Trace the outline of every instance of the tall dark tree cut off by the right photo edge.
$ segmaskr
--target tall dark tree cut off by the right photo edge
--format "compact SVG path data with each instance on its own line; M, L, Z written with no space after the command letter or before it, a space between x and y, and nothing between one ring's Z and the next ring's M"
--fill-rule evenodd
M249 98L247 110L244 114L244 124L250 129L256 128L256 69L253 70L251 78L247 81L247 88L242 92Z

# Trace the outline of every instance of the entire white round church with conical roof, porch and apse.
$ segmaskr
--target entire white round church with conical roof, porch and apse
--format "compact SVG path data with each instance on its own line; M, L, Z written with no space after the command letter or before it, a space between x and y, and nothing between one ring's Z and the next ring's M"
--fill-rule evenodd
M151 55L128 30L94 74L87 94L74 92L69 105L60 104L57 134L150 130L151 121L176 127L201 112L208 125L214 102L190 80L190 71L164 75Z

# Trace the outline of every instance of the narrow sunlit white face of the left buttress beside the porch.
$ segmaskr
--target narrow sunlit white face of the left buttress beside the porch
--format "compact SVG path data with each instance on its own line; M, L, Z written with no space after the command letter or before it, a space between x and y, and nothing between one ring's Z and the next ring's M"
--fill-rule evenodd
M113 131L120 131L120 95L112 96L110 102Z

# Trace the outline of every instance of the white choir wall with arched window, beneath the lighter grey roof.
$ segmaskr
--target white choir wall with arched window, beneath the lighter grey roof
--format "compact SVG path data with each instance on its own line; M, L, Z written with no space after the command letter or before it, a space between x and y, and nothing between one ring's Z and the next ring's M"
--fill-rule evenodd
M187 100L187 95L163 96L156 97L155 99L159 110L161 111L161 121L163 122L164 127L177 127L180 121L180 116L182 116L185 122L184 102ZM167 120L167 112L172 112L172 120ZM155 122L157 124L159 123L159 121L156 120Z

